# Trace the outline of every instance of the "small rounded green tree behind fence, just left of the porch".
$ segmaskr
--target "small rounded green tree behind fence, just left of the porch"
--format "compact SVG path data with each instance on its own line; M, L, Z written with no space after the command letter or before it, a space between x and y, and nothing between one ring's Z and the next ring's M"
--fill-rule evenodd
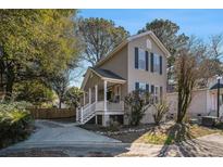
M77 87L71 87L65 92L65 103L71 107L78 107L83 91Z

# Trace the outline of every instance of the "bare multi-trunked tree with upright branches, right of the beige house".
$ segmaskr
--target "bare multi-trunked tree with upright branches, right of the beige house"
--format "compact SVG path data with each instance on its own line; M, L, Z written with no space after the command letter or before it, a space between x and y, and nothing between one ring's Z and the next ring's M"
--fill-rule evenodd
M175 61L178 92L176 123L183 123L193 99L193 90L209 70L209 68L203 68L203 62L208 62L207 46L196 37L191 37L188 44L177 51Z

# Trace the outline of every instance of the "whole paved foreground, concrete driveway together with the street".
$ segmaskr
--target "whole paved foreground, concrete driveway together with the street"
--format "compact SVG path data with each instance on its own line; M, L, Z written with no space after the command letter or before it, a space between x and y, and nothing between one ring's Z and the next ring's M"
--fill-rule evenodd
M210 134L173 145L121 143L76 127L36 121L30 138L0 151L0 156L223 156L223 136Z

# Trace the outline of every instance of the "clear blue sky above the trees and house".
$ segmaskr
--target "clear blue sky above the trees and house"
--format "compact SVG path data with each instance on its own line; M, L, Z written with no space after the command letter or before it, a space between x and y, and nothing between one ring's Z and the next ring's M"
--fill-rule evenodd
M179 33L195 35L208 40L211 35L223 33L223 10L80 10L83 17L103 17L114 21L119 26L134 35L154 18L170 20L181 27ZM87 66L87 65L85 65ZM84 70L84 69L83 69ZM80 86L83 77L73 84Z

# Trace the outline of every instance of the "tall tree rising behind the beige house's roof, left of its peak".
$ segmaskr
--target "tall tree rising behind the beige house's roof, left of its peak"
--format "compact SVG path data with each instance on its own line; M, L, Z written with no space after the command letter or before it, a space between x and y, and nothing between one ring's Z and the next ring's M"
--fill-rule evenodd
M92 66L128 36L123 27L116 27L114 22L104 18L79 18L78 33L82 36L84 59Z

